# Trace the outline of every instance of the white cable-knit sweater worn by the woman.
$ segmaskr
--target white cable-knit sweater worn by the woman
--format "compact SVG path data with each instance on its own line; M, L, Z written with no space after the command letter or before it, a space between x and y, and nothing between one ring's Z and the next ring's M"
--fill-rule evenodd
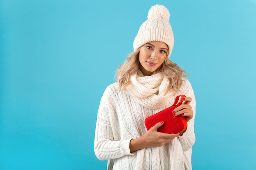
M120 92L117 83L106 88L98 110L94 152L98 159L108 159L108 170L192 170L195 96L187 79L180 91L170 97L167 105L150 109L139 104L134 96ZM192 98L190 105L194 114L184 135L162 147L149 147L130 153L130 140L146 133L145 118L171 106L175 97L181 94Z

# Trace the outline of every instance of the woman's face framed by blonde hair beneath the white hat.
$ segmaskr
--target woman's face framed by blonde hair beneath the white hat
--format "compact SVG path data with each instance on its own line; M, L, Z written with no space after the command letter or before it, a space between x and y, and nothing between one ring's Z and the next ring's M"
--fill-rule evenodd
M139 50L139 69L144 76L152 75L166 59L168 46L164 42L151 41Z

